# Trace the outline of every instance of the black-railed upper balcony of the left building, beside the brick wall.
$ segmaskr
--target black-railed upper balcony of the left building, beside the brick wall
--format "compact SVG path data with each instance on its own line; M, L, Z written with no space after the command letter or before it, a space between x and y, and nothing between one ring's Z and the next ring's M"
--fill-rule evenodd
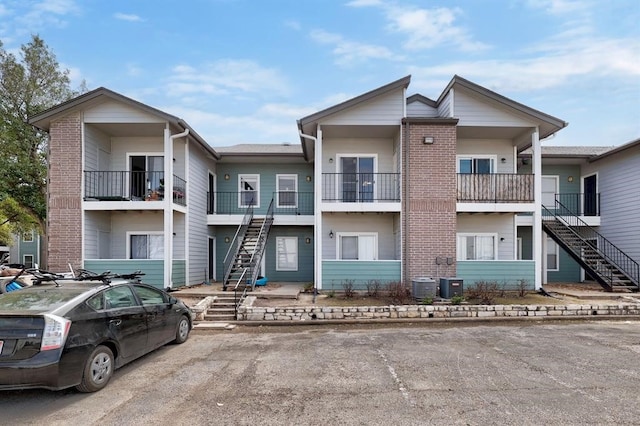
M173 175L173 202L187 205L187 182ZM161 201L164 172L85 171L85 201Z

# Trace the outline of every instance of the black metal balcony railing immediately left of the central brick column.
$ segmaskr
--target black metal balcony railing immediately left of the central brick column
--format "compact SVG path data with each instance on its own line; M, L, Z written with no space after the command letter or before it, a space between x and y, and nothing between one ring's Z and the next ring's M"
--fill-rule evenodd
M322 201L400 201L400 173L323 173Z

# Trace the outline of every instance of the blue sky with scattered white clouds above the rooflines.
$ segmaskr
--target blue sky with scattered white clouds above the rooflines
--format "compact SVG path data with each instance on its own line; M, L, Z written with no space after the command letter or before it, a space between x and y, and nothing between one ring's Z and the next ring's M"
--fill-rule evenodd
M637 0L0 0L85 80L185 119L212 146L299 141L296 119L411 74L454 74L569 122L549 145L640 137Z

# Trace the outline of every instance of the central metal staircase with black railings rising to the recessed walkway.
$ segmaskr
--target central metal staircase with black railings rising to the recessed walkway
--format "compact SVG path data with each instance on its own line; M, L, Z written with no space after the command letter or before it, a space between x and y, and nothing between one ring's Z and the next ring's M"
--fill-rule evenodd
M236 311L247 291L255 288L272 224L273 199L264 218L254 217L253 206L249 206L227 251L222 289L233 289Z

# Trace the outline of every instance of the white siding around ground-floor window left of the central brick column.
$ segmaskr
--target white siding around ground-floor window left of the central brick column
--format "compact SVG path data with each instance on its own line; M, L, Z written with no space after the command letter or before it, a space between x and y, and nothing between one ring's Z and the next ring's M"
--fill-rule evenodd
M330 214L322 218L322 258L336 259L336 245L338 232L376 232L378 233L378 260L398 260L396 255L397 229L393 214L355 213ZM333 230L333 238L329 231ZM399 253L399 252L398 252Z

